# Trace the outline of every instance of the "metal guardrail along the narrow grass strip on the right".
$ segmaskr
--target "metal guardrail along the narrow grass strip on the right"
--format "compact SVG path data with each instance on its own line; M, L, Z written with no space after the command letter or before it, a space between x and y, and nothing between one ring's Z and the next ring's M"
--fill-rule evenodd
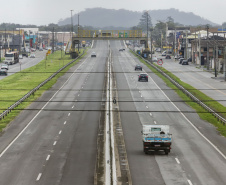
M132 49L130 49L133 53L135 53ZM226 124L226 119L223 118L221 115L216 113L213 109L208 107L205 103L203 103L201 100L199 100L196 96L194 96L192 93L190 93L188 90L186 90L182 85L177 83L174 79L172 79L169 75L167 75L164 71L156 67L154 64L152 64L150 61L145 60L143 57L135 53L138 57L142 58L146 63L151 65L153 68L155 68L159 73L161 73L164 77L166 77L170 82L172 82L177 88L183 91L184 94L186 94L188 97L190 97L192 100L194 100L196 103L198 103L200 106L202 106L205 110L207 110L209 113L213 114L219 121L223 123L223 125Z

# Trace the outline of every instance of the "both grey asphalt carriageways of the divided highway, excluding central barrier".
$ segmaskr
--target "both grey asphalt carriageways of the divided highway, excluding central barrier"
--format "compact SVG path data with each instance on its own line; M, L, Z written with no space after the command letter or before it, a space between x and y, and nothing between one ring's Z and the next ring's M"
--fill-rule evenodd
M97 41L70 69L74 73L40 97L46 102L29 107L40 111L23 111L2 133L0 184L94 184L109 43L132 184L225 185L226 151L218 148L226 148L226 139L197 114L183 114L192 109L171 102L180 98L143 64L149 81L138 82L134 67L140 62L128 49L119 51L125 47L121 41ZM90 57L92 51L96 58ZM169 155L144 154L144 124L170 125Z

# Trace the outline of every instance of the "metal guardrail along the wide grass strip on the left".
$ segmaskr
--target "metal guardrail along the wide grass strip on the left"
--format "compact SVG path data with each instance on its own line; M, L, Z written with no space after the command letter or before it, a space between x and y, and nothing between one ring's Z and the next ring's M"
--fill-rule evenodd
M54 78L59 72L64 70L67 66L75 62L78 58L80 58L84 54L85 50L81 55L79 55L77 58L60 68L57 72L53 73L50 77L48 77L46 80L41 82L37 87L29 91L27 94L25 94L22 98L20 98L16 103L12 104L10 107L8 107L7 110L3 111L3 113L0 114L0 120L4 119L5 116L7 116L14 108L16 108L18 105L20 105L25 99L29 98L32 94L34 94L37 90L39 90L40 87L45 85L47 82L49 82L52 78Z

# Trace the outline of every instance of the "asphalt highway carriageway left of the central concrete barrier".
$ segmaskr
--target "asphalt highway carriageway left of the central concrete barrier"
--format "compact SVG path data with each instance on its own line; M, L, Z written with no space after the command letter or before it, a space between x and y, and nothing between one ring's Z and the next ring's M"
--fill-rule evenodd
M71 68L74 74L66 74L54 85L56 89L64 84L51 99L58 102L49 102L45 109L57 111L41 111L35 117L33 112L29 116L24 111L1 136L4 144L4 138L9 141L11 128L20 124L17 121L23 117L31 121L0 158L1 184L94 183L100 112L85 110L101 108L107 47L107 41L98 42L87 57ZM97 58L90 57L92 51ZM47 91L40 100L49 101L53 93ZM96 102L89 102L92 100ZM39 103L37 106L42 107Z

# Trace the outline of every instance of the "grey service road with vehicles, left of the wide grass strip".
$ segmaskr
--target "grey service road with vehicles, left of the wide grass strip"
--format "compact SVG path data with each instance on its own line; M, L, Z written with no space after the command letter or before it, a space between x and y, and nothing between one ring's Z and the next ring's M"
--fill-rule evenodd
M23 59L19 60L20 61L19 63L9 65L8 76L12 75L16 72L19 72L20 70L27 69L29 67L32 67L32 66L38 64L46 56L46 50L36 51L34 53L35 53L35 58L23 57ZM5 78L5 77L6 76L0 76L0 80Z

